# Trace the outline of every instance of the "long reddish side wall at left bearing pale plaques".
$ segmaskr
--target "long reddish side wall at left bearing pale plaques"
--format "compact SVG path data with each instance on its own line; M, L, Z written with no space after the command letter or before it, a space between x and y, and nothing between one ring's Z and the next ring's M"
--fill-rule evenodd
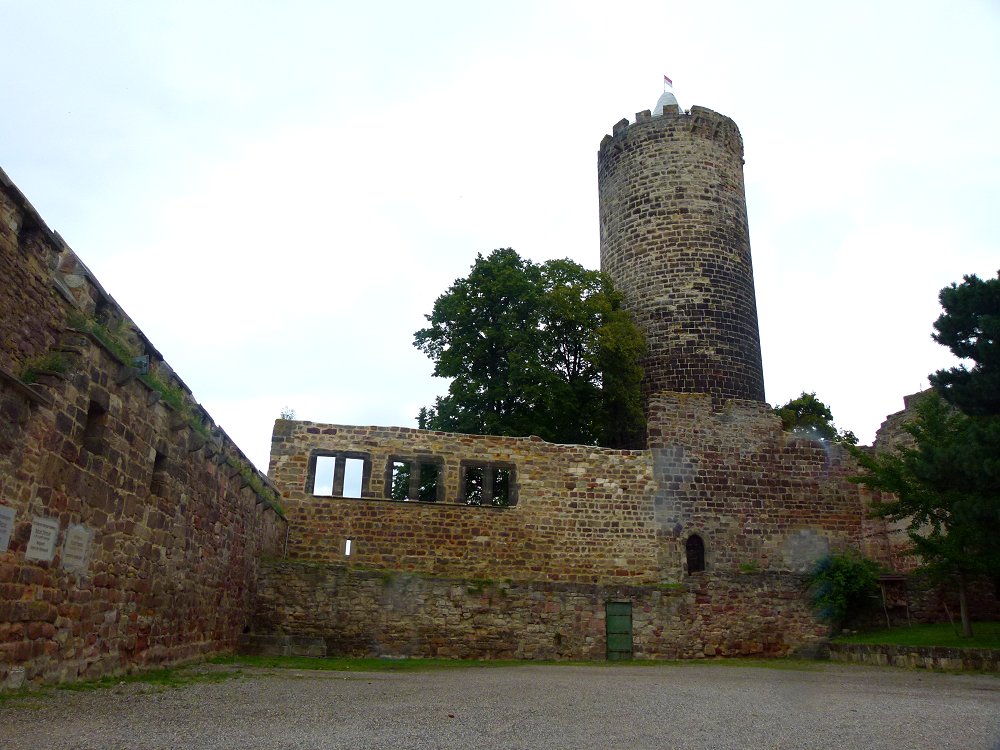
M0 687L231 649L284 541L273 489L0 188Z

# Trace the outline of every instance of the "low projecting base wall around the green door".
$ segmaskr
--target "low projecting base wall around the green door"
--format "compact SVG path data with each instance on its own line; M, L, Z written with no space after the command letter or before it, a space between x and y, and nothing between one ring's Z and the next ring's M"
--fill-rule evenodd
M632 603L637 659L784 655L822 640L798 576L693 576L660 587L469 581L272 561L247 650L466 659L604 659L605 605Z

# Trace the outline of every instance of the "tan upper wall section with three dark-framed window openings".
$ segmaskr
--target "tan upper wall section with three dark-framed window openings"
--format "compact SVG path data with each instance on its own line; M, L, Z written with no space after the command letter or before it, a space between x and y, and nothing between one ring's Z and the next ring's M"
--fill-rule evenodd
M366 457L362 498L314 496L316 456ZM393 457L438 461L437 502L386 498ZM459 499L462 462L514 467L516 504ZM575 582L660 580L649 454L538 438L278 420L269 475L285 498L288 555L445 576Z

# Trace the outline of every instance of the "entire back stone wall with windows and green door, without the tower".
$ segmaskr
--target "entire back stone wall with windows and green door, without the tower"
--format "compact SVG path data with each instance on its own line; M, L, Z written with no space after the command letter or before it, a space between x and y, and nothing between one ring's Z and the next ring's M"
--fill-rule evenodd
M839 446L783 432L754 401L661 393L650 409L645 451L279 420L288 560L262 573L255 637L311 638L310 653L603 658L604 608L627 601L637 657L788 653L826 632L805 597L816 559L901 562ZM314 494L324 456L364 461L358 497ZM390 498L403 460L440 467L433 502ZM512 468L516 503L467 505L475 465Z

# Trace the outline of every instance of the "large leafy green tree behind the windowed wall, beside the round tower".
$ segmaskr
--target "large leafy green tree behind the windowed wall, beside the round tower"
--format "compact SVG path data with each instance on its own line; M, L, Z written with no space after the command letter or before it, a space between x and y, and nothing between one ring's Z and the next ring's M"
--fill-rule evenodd
M426 317L414 345L452 380L421 409L421 427L615 447L641 440L644 343L604 274L495 250Z

